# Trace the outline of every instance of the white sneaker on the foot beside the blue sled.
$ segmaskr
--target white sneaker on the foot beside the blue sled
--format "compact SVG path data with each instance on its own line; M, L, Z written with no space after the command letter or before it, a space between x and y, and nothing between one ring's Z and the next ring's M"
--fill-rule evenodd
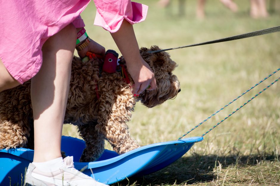
M75 169L73 156L67 156L63 161L65 165L60 170L48 173L38 171L34 164L29 163L24 186L106 186Z

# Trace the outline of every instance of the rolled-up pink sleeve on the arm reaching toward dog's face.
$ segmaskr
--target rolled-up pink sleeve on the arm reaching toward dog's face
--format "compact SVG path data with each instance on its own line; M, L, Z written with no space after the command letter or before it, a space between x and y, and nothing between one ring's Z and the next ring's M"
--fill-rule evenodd
M94 25L102 26L111 33L119 30L122 21L130 24L144 21L148 6L130 0L94 0L97 8Z

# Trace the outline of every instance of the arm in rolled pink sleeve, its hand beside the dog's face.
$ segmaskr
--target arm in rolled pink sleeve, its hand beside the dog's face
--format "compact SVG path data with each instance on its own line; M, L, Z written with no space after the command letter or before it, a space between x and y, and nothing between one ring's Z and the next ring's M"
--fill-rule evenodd
M148 64L141 58L132 24L147 16L148 7L130 0L94 0L97 8L94 25L108 30L125 58L128 71L135 82L134 94L154 90L156 82Z

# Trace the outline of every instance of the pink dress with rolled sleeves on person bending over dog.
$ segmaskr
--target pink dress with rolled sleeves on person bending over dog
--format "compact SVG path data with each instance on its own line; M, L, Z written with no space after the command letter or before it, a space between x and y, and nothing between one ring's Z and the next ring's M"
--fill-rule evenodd
M80 13L90 0L8 0L0 1L0 59L19 82L31 79L42 64L42 46L62 28L84 25ZM139 23L147 6L130 0L94 0L95 25L116 32L122 21Z

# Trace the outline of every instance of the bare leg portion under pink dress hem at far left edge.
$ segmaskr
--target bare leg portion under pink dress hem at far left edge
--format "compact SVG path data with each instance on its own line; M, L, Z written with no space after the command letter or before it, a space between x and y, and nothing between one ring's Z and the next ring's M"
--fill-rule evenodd
M9 88L14 88L20 83L11 76L11 74L5 68L3 62L0 59L0 92Z

